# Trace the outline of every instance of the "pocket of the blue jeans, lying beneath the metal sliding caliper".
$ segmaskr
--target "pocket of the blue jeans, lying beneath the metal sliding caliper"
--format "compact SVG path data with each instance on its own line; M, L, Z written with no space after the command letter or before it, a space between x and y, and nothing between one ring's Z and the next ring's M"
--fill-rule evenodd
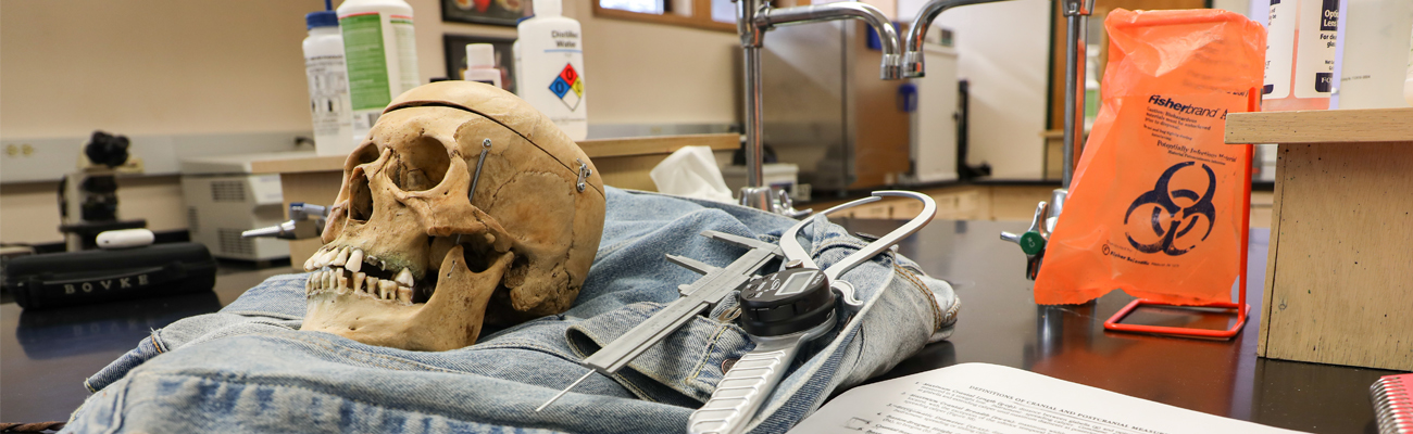
M661 309L660 303L643 302L588 318L567 331L569 347L588 356ZM723 365L753 347L735 323L692 316L615 379L642 399L695 409L716 389Z

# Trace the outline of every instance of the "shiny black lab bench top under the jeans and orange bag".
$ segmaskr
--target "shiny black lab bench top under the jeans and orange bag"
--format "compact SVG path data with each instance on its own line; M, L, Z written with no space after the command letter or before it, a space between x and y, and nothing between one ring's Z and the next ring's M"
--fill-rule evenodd
M885 234L894 220L836 218L851 231ZM1111 293L1087 304L1037 306L1024 258L996 240L1023 221L934 220L899 244L962 300L955 334L924 347L880 379L965 362L1027 369L1195 411L1316 433L1373 433L1369 385L1392 371L1256 356L1262 296L1252 320L1231 341L1111 333L1104 320L1132 297ZM1251 255L1266 252L1267 230L1252 230ZM264 278L287 269L243 269L216 279L213 293L21 311L0 304L0 382L4 421L65 420L89 395L82 382L160 328L211 313ZM1252 261L1252 287L1265 266ZM1229 314L1142 309L1128 321L1226 328Z

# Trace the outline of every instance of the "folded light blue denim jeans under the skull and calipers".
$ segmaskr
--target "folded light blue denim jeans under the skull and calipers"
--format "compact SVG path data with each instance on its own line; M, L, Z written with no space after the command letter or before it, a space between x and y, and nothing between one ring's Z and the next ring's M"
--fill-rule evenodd
M616 375L592 375L554 406L534 409L588 371L579 361L698 278L664 254L723 266L742 248L701 231L774 242L796 221L656 193L606 193L598 256L564 314L487 330L454 351L372 347L300 331L307 275L274 276L219 313L153 331L95 373L85 382L93 396L65 431L682 433L723 362L753 348L729 320L735 300L694 317ZM801 234L821 268L866 244L834 224ZM779 269L776 262L762 272ZM784 433L831 392L889 371L955 323L952 289L903 256L879 255L842 279L863 309L835 316L834 331L803 348L752 433Z

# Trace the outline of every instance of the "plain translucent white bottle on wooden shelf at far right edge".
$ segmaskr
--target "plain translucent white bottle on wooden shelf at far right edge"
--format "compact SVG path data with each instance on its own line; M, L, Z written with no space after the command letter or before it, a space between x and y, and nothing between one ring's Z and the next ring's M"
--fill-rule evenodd
M1340 108L1407 107L1399 79L1407 75L1413 0L1348 0L1345 6Z

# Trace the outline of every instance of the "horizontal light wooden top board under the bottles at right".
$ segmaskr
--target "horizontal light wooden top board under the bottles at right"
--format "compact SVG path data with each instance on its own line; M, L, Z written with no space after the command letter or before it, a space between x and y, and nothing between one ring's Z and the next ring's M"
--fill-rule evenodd
M1413 140L1413 108L1232 113L1228 144L1395 142Z

